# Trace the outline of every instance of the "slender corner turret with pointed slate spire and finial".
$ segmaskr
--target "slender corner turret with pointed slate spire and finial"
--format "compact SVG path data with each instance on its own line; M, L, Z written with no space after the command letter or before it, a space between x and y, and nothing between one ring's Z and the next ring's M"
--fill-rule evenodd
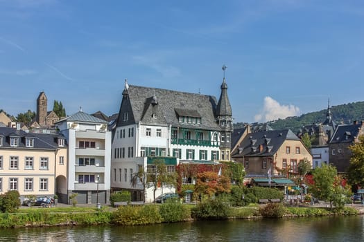
M227 84L225 80L226 66L223 66L224 78L221 84L221 94L216 107L216 122L221 128L220 131L220 160L230 160L230 151L232 149L232 106L227 97Z

